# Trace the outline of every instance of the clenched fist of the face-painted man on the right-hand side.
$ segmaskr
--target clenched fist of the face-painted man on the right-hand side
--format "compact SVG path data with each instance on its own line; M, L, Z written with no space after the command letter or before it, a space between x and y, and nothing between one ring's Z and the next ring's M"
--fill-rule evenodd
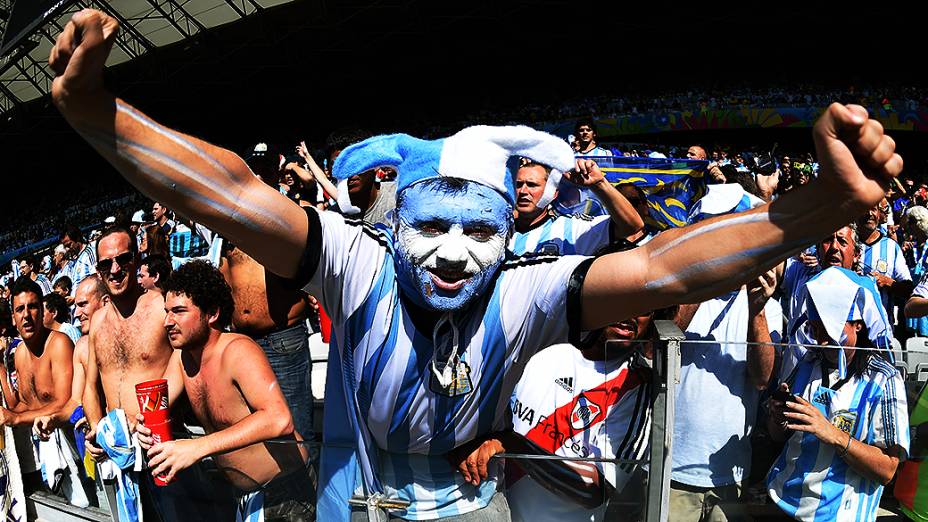
M863 212L883 199L892 178L902 172L896 142L859 105L833 103L815 124L819 179L838 205Z

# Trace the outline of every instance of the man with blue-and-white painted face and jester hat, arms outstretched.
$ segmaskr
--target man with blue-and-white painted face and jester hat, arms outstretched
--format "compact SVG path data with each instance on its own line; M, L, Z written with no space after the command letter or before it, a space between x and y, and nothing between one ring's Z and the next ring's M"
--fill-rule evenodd
M327 418L325 426L351 444L324 449L318 513L327 521L348 517L356 486L371 495L373 514L382 493L409 502L392 512L400 518L505 519L497 465L474 486L445 454L503 424L535 351L736 287L875 204L902 168L865 109L834 104L814 131L821 173L796 193L628 252L508 260L515 187L507 161L549 165L556 184L575 166L560 139L526 127L471 127L443 140L390 135L349 147L334 165L339 180L384 165L398 172L398 221L384 233L301 209L235 154L116 99L102 70L117 30L98 11L72 18L50 56L53 100L143 193L305 283L330 312L340 353L330 364L344 378L342 396L326 397L341 423Z

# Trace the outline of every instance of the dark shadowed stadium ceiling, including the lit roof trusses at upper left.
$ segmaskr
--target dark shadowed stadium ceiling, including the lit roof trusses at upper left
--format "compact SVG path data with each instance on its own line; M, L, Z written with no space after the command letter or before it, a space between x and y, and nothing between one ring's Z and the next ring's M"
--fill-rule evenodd
M10 2L0 0L0 18ZM921 48L920 19L880 5L757 12L566 0L80 0L32 35L27 55L0 65L0 170L33 168L50 142L97 167L44 95L51 41L82 6L123 19L111 89L238 151L259 139L318 143L351 123L415 132L585 94L742 81L912 83L921 74L903 52Z

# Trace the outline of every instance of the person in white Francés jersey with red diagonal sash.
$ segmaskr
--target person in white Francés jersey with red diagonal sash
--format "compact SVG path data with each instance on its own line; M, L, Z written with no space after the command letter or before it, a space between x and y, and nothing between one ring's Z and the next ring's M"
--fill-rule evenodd
M513 432L455 449L465 480L487 478L496 453L641 459L650 433L653 312L611 324L585 348L557 344L525 367L510 403ZM637 341L637 342L636 342ZM644 342L641 342L644 341ZM514 459L506 470L514 521L605 520L606 501L622 492L634 464ZM631 495L634 497L634 495ZM635 499L642 501L642 498Z

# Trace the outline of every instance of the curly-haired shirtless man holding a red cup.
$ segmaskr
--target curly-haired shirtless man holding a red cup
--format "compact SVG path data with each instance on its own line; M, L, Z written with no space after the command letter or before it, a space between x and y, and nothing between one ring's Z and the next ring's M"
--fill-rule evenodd
M244 335L224 333L233 314L232 291L209 263L179 268L165 285L164 327L176 348L168 364L170 401L187 392L207 435L152 444L137 426L152 474L174 475L207 456L240 491L240 520L315 520L315 474L277 379L261 348ZM137 420L142 422L141 415Z

